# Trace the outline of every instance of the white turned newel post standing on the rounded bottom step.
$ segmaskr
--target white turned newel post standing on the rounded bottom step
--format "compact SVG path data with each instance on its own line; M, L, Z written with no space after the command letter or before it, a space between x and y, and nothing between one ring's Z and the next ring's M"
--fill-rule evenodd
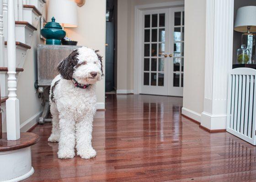
M8 99L6 101L6 128L7 140L18 140L20 138L20 111L19 100L16 96L16 43L15 43L15 18L14 0L8 0L8 42L7 42L7 64L8 64Z

